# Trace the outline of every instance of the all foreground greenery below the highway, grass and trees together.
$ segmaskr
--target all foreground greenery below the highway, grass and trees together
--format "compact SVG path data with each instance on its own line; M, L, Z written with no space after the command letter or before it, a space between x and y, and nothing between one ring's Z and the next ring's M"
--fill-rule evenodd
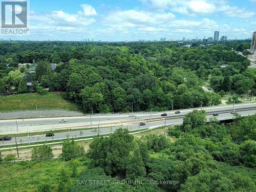
M183 125L168 127L167 135L134 137L119 129L95 136L86 153L67 139L60 157L66 162L47 160L53 157L49 145L34 147L33 161L0 164L0 190L255 191L255 136L256 115L220 124L206 122L205 111L193 111Z

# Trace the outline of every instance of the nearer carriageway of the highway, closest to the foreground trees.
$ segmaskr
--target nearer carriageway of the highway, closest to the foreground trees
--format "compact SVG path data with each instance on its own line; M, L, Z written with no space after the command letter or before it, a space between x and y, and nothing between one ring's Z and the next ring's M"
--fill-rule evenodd
M246 109L246 108L248 108L248 105L245 105L245 106L244 106L244 108L238 107L238 109L236 109L238 114L240 114L242 116L246 116L246 115L253 115L256 113L255 107ZM230 106L229 106L229 108L230 108ZM218 114L219 114L219 116L217 116L217 119L224 120L224 119L231 119L233 117L233 115L230 113L229 109L227 109L227 108L224 108L224 109L225 110L222 109L221 111L220 111L220 109L219 109L219 111L216 110L216 112L218 111ZM186 110L186 111L189 111L189 110ZM119 127L128 128L129 131L133 131L133 130L139 130L139 129L145 129L145 128L152 129L154 127L162 126L165 123L166 123L166 125L182 124L184 114L186 114L186 113L187 112L185 112L185 110L181 114L178 114L178 115L173 115L173 112L168 113L168 116L166 117L166 119L164 117L159 117L159 115L158 115L157 118L152 118L152 121L150 121L150 119L143 119L143 120L135 119L135 121L132 121L132 122L123 123L122 125L119 125L119 126L113 126L112 129L110 127L108 127L108 128L100 128L98 130L101 135L104 135L104 134L113 133ZM148 115L145 115L145 117L148 117ZM208 112L207 119L212 118L212 117L213 117L212 112ZM140 122L145 122L146 125L140 126L139 125ZM97 134L98 134L98 132L92 132L91 130L84 130L84 131L82 131L82 133L80 133L80 131L56 133L55 136L53 136L53 137L46 137L45 135L37 135L37 136L31 136L31 137L17 137L17 143L19 144L19 143L33 143L33 142L38 142L38 141L53 141L53 140L59 140L59 139L66 139L67 136L69 136L70 138L72 138L72 136L73 136L73 138L78 138L78 137L94 136ZM0 145L10 145L10 144L15 144L14 138L11 141L1 141L0 142Z

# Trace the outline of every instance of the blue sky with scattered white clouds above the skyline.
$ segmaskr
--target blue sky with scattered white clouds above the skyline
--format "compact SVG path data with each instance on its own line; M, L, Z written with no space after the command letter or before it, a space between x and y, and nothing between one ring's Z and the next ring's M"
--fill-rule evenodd
M29 35L13 40L251 38L256 0L30 0Z

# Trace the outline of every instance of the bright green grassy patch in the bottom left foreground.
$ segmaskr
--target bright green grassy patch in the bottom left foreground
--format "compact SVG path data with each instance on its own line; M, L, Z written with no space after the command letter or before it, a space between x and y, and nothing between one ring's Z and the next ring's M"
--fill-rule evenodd
M19 163L0 164L0 191L41 191L42 184L49 184L50 191L57 191L60 170L65 169L68 177L66 186L74 185L72 178L72 162L77 163L77 174L87 168L84 166L86 159L83 157L63 162L61 159L46 160L41 162L27 161Z

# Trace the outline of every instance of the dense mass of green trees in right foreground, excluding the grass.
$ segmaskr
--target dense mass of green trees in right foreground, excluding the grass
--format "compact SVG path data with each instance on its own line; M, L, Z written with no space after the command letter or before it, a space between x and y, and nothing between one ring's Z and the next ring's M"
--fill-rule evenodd
M174 142L153 134L135 139L127 130L95 138L88 153L90 168L78 180L112 182L75 185L72 191L255 191L255 118L206 123L206 113L194 111L182 126L169 128ZM144 184L116 185L116 180Z

